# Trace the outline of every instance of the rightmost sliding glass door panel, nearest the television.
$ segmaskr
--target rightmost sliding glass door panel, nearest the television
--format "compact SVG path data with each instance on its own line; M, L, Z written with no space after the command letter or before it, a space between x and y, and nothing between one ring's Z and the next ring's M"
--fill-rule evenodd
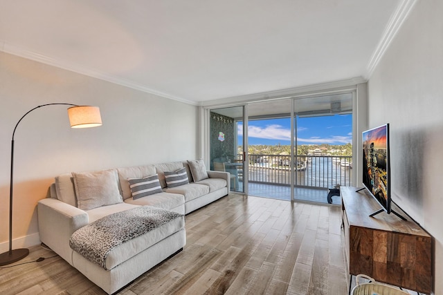
M327 189L351 184L352 93L294 99L294 197L327 202ZM340 198L332 198L335 204Z

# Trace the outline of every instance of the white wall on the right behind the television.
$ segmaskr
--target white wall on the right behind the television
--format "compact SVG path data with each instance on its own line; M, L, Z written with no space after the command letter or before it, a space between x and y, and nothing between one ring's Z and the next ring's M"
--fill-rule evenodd
M390 123L393 198L435 238L443 294L443 1L417 1L368 82L369 125Z

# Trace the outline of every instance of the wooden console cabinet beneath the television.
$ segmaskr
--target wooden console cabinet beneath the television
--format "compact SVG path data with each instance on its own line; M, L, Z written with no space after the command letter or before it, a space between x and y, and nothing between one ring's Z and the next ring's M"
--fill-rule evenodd
M341 187L345 262L350 275L366 274L375 280L425 294L432 289L432 237L399 207L404 216L381 212L368 191Z

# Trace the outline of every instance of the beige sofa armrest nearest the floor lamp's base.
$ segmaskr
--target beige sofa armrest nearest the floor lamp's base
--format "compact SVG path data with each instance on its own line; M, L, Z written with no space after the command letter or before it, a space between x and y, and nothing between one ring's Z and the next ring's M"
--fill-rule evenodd
M40 240L72 265L69 238L89 223L88 214L55 198L46 198L37 204L37 218Z

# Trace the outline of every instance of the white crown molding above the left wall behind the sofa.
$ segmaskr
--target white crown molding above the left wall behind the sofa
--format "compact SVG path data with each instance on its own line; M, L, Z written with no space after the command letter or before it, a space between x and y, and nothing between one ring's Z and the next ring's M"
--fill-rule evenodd
M92 68L82 67L76 64L71 64L67 61L63 61L62 59L55 59L53 57L47 57L46 55L41 55L39 53L35 53L33 51L27 50L26 48L22 48L20 46L16 46L14 44L9 44L7 41L0 40L0 51L4 53L9 53L11 55L17 55L18 57L24 57L26 59L30 59L33 61L38 61L42 64L48 64L49 66L55 66L57 68L62 68L64 70L70 70L74 73L79 73L82 75L86 75L89 77L93 77L96 79L100 79L103 81L111 82L113 84L118 84L121 86L125 86L128 88L133 88L138 91L143 91L145 93L150 93L152 95L158 95L161 97L165 97L168 99L177 100L178 102L183 102L185 104L192 104L197 106L197 102L192 102L189 99L184 99L182 97L177 97L174 95L170 95L168 93L163 93L161 91L156 91L152 88L149 88L143 84L136 83L134 81L130 81L127 79L122 79L118 76L109 75L107 73L102 73L98 70L94 70Z

